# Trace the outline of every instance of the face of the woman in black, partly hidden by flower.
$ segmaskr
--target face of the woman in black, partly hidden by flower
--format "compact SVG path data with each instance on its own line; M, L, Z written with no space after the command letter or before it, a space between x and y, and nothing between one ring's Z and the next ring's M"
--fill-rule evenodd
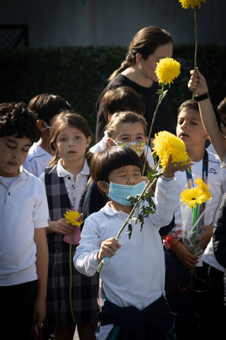
M155 74L155 69L157 67L157 62L159 62L162 58L171 58L173 51L172 43L167 45L160 45L156 48L153 55L149 55L146 60L141 56L141 72L143 73L143 77L146 79L150 79L152 81L158 81L157 76Z

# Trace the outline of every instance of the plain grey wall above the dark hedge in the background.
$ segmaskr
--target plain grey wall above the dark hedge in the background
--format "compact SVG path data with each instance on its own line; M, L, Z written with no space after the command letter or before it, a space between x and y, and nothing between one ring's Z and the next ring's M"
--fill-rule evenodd
M198 42L226 45L226 0L206 0L197 12ZM194 43L194 11L178 0L1 0L0 23L28 24L30 47L127 46L151 25Z

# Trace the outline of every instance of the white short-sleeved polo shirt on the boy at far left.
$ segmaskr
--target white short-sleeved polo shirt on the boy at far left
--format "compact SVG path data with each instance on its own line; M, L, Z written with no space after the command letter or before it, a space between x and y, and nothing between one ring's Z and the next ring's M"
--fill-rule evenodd
M44 185L21 166L13 179L0 176L0 196L0 285L37 280L34 233L49 215Z

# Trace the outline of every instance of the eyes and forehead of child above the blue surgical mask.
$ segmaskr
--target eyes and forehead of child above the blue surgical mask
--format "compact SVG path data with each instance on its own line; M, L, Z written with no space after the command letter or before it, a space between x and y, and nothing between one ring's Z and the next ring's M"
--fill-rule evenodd
M135 186L141 183L141 169L135 165L122 166L113 170L108 176L109 183L117 183L126 186Z

